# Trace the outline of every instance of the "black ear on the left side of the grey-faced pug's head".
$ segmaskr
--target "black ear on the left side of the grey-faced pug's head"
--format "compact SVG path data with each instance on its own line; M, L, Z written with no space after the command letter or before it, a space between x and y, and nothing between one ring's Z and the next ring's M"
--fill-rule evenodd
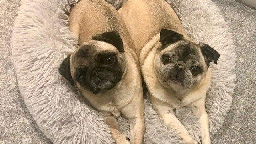
M173 44L182 39L183 36L181 34L178 34L177 32L174 32L172 30L162 29L160 32L159 42L162 43L162 46L166 46L167 44Z

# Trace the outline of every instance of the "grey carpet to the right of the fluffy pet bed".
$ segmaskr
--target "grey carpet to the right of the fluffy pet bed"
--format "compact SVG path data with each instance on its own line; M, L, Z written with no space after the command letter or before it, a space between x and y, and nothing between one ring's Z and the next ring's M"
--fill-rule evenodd
M256 10L233 0L214 0L236 45L236 89L216 144L256 143Z

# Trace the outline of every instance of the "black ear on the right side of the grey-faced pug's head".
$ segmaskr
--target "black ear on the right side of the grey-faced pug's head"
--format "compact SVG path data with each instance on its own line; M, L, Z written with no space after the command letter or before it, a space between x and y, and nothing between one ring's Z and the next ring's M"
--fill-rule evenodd
M204 44L201 48L201 52L204 55L206 59L206 64L209 66L210 62L214 62L214 64L217 64L218 58L220 58L220 54L214 50L212 47L210 47L207 44Z

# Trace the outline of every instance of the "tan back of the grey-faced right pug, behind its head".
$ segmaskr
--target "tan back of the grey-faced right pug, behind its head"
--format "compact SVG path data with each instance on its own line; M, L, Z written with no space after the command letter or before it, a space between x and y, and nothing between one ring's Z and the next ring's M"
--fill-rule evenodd
M162 28L185 34L178 16L164 0L128 0L119 13L138 52Z

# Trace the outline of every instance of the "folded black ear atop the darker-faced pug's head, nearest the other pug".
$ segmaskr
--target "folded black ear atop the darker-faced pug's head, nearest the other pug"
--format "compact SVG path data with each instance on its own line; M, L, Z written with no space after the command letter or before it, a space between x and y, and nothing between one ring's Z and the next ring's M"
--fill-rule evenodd
M92 39L112 44L119 52L124 52L124 44L118 31L104 32L103 34L92 37Z

